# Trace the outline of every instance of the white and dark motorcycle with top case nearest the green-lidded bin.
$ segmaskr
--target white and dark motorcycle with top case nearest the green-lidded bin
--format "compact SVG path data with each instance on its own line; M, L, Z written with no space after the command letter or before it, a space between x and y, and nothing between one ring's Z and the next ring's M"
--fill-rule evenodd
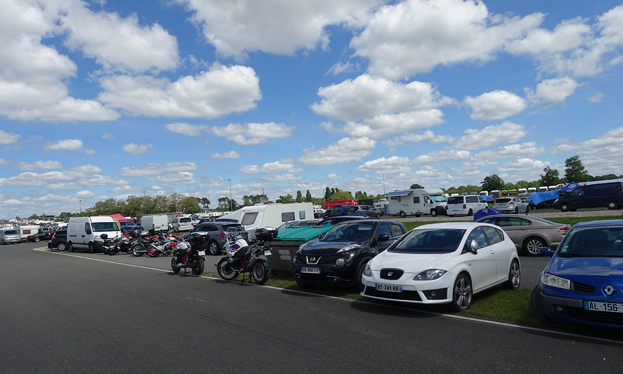
M270 277L270 263L260 258L262 254L270 255L272 248L270 242L277 237L275 228L259 228L255 230L257 242L248 244L242 233L234 236L234 233L227 234L229 247L225 251L227 257L223 257L216 266L219 276L225 280L236 279L240 273L250 272L257 284L265 284ZM244 278L243 278L244 280Z

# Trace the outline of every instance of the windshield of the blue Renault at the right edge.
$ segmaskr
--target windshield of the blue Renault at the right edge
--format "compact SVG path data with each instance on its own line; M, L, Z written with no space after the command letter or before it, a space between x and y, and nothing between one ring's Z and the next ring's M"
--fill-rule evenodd
M571 229L560 257L623 257L623 226Z

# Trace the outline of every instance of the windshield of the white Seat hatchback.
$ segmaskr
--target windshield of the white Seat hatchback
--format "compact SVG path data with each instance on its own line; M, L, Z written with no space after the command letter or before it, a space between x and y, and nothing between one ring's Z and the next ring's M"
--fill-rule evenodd
M465 230L421 229L409 231L388 251L406 253L450 253L457 250Z

